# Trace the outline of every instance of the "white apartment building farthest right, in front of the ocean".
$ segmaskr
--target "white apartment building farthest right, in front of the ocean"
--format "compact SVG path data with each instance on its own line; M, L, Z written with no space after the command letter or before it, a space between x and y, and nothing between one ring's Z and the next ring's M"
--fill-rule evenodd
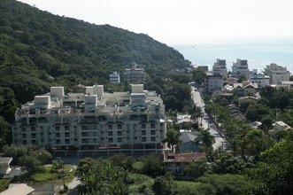
M287 67L278 66L274 63L266 66L265 74L270 77L271 84L281 84L281 82L289 82L290 73Z

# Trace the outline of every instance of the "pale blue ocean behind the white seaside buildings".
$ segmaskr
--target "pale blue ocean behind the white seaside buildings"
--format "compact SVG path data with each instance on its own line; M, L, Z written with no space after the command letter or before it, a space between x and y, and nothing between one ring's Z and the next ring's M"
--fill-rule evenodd
M197 66L209 66L212 69L217 58L226 59L227 70L231 70L237 58L247 59L249 69L264 71L266 65L275 63L286 66L293 74L293 39L292 40L249 40L227 41L221 43L195 43L172 45Z

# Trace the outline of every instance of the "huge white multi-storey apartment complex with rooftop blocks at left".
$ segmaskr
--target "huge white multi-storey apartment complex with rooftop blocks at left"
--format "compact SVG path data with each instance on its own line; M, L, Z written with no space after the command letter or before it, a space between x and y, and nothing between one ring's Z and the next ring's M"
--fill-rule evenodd
M63 87L51 87L22 105L12 126L13 144L49 144L66 155L160 152L165 135L165 105L143 84L112 94L103 85L67 95Z

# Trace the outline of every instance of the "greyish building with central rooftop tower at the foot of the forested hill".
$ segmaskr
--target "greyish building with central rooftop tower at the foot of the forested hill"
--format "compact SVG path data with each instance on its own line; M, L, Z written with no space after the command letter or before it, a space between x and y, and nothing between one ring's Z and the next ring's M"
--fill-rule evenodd
M143 68L137 68L137 65L132 63L130 69L125 70L125 79L128 83L144 82L145 74Z

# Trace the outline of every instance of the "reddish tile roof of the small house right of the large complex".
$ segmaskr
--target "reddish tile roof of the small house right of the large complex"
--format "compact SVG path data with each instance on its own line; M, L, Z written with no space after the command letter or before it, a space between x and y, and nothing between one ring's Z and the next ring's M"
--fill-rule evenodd
M206 158L204 152L165 153L164 162L189 162Z

